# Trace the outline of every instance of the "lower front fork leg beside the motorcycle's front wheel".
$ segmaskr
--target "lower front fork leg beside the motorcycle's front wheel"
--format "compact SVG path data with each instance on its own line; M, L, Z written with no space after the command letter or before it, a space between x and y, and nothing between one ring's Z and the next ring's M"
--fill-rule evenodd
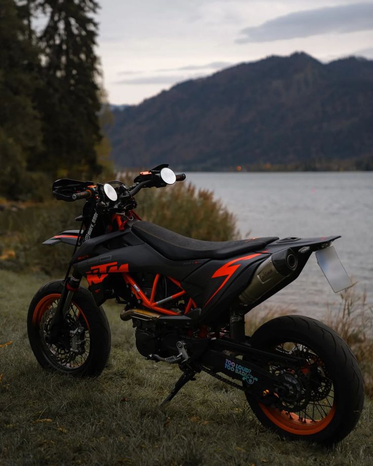
M74 272L65 280L65 286L62 290L61 298L58 301L56 312L52 318L50 331L45 338L48 344L56 343L59 340L60 331L63 327L65 316L70 308L74 293L79 290L81 280L82 275L77 272Z

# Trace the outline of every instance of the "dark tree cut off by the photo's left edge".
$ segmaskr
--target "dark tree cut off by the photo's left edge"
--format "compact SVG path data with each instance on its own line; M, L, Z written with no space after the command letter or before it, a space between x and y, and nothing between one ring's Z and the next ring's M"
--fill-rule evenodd
M38 50L14 0L0 3L0 44L0 192L15 198L27 159L41 150L42 133L34 102Z

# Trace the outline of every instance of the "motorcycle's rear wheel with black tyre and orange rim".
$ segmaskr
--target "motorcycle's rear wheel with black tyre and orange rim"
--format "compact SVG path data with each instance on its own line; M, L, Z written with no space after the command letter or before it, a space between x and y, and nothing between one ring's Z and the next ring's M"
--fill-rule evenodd
M352 431L363 407L363 378L337 333L315 319L285 316L259 327L250 343L303 360L293 366L269 361L266 368L282 386L277 393L264 391L257 400L246 391L263 425L288 439L323 444L339 442Z

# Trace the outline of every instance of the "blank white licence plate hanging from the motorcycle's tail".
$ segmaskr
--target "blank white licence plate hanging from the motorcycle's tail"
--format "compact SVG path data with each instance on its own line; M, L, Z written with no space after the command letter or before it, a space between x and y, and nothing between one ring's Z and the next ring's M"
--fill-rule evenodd
M351 279L342 265L334 246L316 251L316 259L334 293L352 286Z

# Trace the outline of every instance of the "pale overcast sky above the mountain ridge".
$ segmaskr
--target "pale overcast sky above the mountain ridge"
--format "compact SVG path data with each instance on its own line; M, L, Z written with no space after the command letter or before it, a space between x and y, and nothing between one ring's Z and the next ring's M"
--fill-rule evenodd
M373 59L373 0L99 0L103 85L138 104L174 84L270 55Z

